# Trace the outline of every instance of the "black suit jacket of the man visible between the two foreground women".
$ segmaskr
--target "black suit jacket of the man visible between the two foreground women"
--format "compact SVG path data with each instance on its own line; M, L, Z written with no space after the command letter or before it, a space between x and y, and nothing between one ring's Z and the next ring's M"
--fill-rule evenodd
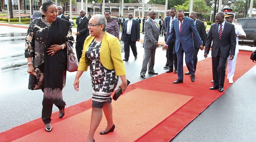
M88 22L89 22L89 19L87 17L84 17L84 19L82 19L80 24L78 22L77 32L79 32L80 35L76 36L76 41L85 42L85 39L89 36Z

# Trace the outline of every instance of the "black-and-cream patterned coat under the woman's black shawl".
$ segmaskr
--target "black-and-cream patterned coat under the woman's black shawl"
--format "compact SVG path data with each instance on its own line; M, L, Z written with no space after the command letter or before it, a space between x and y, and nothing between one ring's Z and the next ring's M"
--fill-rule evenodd
M44 54L46 49L46 41L50 33L51 23L46 22L42 17L35 19L28 27L26 36L25 57L33 57L33 65L35 75L29 76L28 89L37 90L43 88L44 78ZM67 41L72 46L74 38L72 37L71 29L67 33ZM63 77L64 78L64 77ZM63 81L63 87L65 81Z

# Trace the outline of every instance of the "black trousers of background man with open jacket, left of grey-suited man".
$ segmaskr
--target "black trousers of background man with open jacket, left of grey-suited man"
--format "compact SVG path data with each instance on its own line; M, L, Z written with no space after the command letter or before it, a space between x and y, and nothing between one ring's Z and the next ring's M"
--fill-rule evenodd
M137 47L136 41L131 41L131 35L126 34L126 39L124 41L124 58L128 59L130 56L130 47L134 57L137 57Z

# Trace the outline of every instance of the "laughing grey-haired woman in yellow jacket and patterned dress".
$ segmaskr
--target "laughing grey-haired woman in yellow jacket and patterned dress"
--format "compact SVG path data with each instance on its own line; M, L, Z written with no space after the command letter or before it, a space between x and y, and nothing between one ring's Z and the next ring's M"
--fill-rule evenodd
M119 85L122 93L127 87L126 71L121 58L121 45L115 36L105 32L106 24L106 18L102 15L93 15L89 20L90 36L85 39L74 82L74 88L78 91L79 77L90 67L93 103L87 142L94 142L94 133L102 119L102 108L108 125L100 134L105 135L114 131L111 94L117 86L119 76L122 80Z

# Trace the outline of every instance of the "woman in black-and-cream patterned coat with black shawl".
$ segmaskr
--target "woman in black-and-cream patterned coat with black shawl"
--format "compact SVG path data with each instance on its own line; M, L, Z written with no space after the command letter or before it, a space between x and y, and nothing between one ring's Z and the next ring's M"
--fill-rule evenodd
M33 20L26 36L25 57L28 59L28 89L43 91L42 120L45 130L52 131L52 105L59 108L59 118L65 114L62 89L67 70L67 44L73 45L74 38L70 22L57 18L54 2L42 6L43 15Z

